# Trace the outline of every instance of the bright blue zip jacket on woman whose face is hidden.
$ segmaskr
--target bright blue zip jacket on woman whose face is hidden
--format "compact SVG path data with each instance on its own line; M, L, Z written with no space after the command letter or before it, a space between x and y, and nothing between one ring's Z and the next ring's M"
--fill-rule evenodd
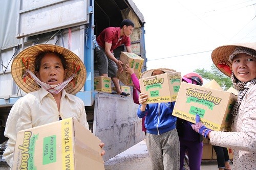
M137 115L145 118L145 128L147 133L160 135L176 128L176 116L173 116L175 102L147 104L145 111L141 111L139 106Z

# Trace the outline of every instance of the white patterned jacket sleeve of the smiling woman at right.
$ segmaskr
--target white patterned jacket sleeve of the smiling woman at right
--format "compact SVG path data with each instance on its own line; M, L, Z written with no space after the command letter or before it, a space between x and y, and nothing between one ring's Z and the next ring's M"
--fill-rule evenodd
M240 150L241 152L251 152L256 145L256 85L250 88L244 96L237 116L233 117L233 132L210 133L212 144L221 147ZM254 149L253 149L254 148Z

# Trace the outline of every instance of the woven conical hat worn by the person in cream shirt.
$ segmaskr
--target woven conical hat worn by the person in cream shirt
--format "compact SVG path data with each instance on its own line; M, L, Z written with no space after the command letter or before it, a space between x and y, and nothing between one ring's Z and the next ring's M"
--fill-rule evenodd
M67 75L66 78L76 74L69 84L65 87L67 93L75 94L81 90L86 82L86 67L80 58L65 47L54 44L37 44L25 48L17 54L12 61L11 74L16 84L26 93L39 90L39 85L34 79L25 72L27 69L35 72L35 59L36 56L45 52L56 52L63 55L67 62Z

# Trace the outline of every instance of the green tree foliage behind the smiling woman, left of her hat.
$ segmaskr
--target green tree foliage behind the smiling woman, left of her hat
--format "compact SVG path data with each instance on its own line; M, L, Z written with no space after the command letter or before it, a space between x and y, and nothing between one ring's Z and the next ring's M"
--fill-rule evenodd
M197 72L203 79L206 80L215 80L224 90L229 89L232 87L231 79L223 74L215 64L211 65L211 70L208 71L206 69L196 69L194 72Z

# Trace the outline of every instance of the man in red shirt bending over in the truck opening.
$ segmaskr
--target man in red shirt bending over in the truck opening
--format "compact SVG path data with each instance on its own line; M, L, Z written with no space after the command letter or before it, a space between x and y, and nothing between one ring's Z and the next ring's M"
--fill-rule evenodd
M99 75L111 77L117 94L124 96L129 93L122 92L119 85L119 80L116 78L117 68L122 72L122 62L114 56L113 50L124 44L126 51L132 53L130 35L134 29L134 23L130 19L124 19L120 27L108 27L104 29L97 37L100 50L96 47L96 60L98 63Z

